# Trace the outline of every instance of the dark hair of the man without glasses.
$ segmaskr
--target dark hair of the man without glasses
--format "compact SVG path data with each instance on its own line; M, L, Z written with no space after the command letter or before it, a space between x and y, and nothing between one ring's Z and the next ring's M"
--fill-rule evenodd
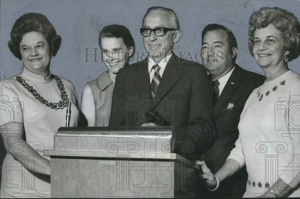
M220 24L208 24L207 26L204 27L203 31L202 31L202 41L203 41L203 37L204 35L208 32L208 31L218 31L218 30L223 30L226 32L227 34L227 42L229 43L229 48L230 50L232 50L233 47L235 47L236 49L238 49L238 44L236 42L236 39L232 33L232 31L229 28L226 28L223 25ZM230 53L232 53L232 51L230 51ZM236 59L236 56L234 58L234 60Z

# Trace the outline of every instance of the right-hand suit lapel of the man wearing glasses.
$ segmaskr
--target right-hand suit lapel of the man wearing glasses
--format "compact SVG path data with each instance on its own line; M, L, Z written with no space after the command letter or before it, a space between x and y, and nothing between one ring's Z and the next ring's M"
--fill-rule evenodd
M177 63L176 60L180 60L180 59L173 54L164 70L163 76L161 78L161 81L159 83L156 92L156 95L158 96L159 100L161 100L167 94L167 92L174 86L174 84L181 77L181 73L179 72L179 70L182 70L183 66L182 63Z

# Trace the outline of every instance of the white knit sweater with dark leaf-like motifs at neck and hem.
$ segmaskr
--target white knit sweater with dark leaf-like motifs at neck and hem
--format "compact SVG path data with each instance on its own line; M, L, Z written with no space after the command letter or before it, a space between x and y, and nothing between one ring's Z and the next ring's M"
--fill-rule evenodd
M290 70L253 90L238 130L227 159L246 164L244 197L261 195L279 177L291 183L300 166L300 75ZM290 196L299 195L300 189Z

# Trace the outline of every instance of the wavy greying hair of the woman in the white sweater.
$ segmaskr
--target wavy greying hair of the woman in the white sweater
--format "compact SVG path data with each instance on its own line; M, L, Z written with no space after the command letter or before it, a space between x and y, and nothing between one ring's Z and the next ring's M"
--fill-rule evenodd
M295 15L278 7L262 7L250 16L248 29L250 54L253 56L255 30L265 28L269 24L273 24L275 28L281 31L281 35L285 40L284 48L290 51L287 55L289 61L299 57L300 22Z

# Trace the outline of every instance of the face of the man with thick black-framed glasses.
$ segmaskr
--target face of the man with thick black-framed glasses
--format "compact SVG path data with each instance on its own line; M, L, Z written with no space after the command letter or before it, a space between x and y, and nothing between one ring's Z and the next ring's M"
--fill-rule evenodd
M151 11L143 21L143 28L176 28L170 20L171 14L163 10ZM144 46L148 55L156 63L171 53L174 43L181 37L181 31L168 31L166 35L158 37L152 31L149 37L143 37Z

